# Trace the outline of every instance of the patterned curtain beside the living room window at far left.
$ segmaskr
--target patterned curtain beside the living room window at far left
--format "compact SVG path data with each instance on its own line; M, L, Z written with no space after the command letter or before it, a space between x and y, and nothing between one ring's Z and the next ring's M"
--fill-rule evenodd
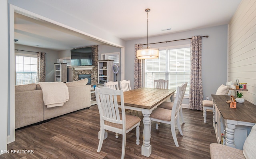
M36 83L45 81L45 52L37 53Z

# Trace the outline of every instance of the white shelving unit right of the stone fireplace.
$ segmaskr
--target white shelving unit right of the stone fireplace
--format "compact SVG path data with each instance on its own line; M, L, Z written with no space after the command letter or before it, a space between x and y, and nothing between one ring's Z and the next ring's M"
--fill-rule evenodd
M104 82L114 81L114 72L112 70L114 60L98 61L98 85L104 85Z

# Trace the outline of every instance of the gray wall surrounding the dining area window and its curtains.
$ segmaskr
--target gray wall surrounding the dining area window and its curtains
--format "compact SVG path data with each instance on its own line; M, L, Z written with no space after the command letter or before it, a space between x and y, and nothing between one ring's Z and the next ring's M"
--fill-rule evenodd
M196 35L209 36L209 38L202 38L202 82L204 99L206 96L209 96L211 99L211 94L215 94L218 87L221 84L226 84L227 81L228 25L153 36L148 38L148 42L186 39ZM138 43L146 44L146 42L146 38L126 42L124 57L125 79L130 80L132 89L134 88L134 45ZM190 40L154 44L152 47L162 48L185 44L190 44Z

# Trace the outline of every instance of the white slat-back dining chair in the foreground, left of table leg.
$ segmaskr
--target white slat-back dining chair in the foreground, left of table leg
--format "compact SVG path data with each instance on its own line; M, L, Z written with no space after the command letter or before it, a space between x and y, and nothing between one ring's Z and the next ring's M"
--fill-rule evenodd
M128 115L124 109L124 91L108 87L95 88L96 101L100 112L100 140L97 152L101 151L105 130L122 134L122 156L124 159L126 133L136 127L136 144L140 145L140 118ZM118 109L117 95L120 95L121 113Z

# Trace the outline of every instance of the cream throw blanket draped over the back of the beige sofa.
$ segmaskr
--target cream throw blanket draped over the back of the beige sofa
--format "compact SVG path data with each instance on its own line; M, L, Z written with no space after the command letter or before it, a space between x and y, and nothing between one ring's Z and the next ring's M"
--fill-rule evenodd
M44 105L49 107L63 106L69 99L68 86L63 82L39 82L43 92Z

